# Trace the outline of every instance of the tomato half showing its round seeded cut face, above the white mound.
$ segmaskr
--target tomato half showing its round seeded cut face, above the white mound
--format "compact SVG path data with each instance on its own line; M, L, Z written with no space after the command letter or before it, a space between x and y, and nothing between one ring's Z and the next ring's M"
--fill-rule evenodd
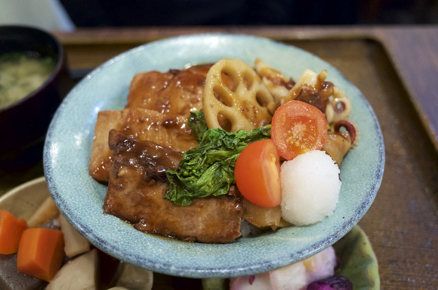
M289 101L272 117L271 138L281 157L291 160L309 150L320 150L327 136L322 111L302 101Z

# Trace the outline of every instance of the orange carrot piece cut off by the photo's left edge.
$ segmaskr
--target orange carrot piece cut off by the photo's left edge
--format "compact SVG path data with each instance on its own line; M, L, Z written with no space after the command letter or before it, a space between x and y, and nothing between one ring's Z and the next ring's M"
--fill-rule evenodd
M9 211L0 209L0 254L14 254L26 228L25 220L15 218Z

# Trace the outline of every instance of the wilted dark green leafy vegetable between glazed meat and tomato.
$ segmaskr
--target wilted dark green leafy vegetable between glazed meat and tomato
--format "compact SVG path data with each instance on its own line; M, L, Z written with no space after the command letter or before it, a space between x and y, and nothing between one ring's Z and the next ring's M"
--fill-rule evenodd
M178 171L167 171L169 187L164 198L177 205L191 205L196 198L227 194L230 185L235 183L235 161L242 150L248 144L270 137L270 125L249 132L227 132L218 128L203 133L205 120L201 114L189 122L196 136L202 135L201 142L184 153Z

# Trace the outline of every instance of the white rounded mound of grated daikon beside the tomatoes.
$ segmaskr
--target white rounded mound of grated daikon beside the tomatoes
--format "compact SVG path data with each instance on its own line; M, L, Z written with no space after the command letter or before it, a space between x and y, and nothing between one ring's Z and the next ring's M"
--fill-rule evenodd
M313 150L281 165L281 214L296 226L332 215L339 198L339 167L324 151Z

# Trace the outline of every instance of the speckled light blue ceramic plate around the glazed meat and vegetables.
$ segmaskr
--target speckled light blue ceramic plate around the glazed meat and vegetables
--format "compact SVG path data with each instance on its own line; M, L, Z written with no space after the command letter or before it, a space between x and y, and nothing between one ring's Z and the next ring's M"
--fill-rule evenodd
M223 57L251 66L256 57L298 79L310 68L328 70L327 80L346 91L359 145L342 164L335 213L311 226L290 227L255 238L211 245L147 235L103 214L106 187L88 174L98 111L123 109L136 72L184 68ZM85 77L57 110L44 146L44 174L60 211L95 246L116 258L175 276L229 277L254 274L300 261L343 237L372 204L383 176L383 137L365 97L333 66L305 51L265 38L229 34L181 36L145 44L109 60Z

